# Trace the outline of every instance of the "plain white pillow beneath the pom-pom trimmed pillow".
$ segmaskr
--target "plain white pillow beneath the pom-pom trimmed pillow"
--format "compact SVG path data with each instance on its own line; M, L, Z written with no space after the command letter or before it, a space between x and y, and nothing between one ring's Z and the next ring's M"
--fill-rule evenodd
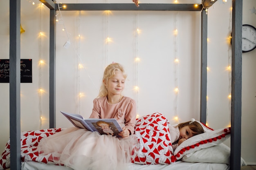
M219 144L205 149L186 154L182 157L184 162L204 162L204 163L226 163L229 164L230 148L225 144ZM246 162L241 158L241 166Z

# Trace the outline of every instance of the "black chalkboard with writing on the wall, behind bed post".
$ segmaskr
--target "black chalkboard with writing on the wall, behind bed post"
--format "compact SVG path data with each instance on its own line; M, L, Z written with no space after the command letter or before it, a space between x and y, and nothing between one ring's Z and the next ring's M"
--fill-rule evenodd
M0 83L9 83L9 59L0 59ZM32 59L20 59L20 82L32 83Z

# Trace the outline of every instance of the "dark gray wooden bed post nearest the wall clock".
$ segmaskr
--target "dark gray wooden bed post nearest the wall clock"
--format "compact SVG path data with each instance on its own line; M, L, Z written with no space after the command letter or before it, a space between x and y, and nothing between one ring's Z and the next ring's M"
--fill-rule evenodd
M240 170L242 96L242 15L243 0L232 0L231 66L231 151L230 169Z

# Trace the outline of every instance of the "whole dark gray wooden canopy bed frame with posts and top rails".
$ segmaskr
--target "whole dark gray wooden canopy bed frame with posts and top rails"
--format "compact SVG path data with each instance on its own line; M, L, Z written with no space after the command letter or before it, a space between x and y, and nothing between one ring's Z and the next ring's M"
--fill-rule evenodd
M49 128L56 126L56 11L55 0L40 0L50 10L49 26ZM216 0L217 1L217 0ZM63 11L201 11L201 94L200 121L206 122L207 99L207 13L214 0L202 4L67 4ZM63 6L64 4L59 4ZM231 154L230 169L240 170L241 87L242 87L242 7L243 0L232 0L231 73ZM10 142L11 169L20 170L20 0L10 0Z

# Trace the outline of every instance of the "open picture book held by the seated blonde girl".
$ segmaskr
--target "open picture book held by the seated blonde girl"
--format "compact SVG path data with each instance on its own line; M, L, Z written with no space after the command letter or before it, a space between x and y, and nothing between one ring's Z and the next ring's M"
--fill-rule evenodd
M83 116L74 113L61 113L76 127L90 130L92 132L99 132L101 135L112 135L121 137L118 135L122 130L118 124L117 119L84 119Z

